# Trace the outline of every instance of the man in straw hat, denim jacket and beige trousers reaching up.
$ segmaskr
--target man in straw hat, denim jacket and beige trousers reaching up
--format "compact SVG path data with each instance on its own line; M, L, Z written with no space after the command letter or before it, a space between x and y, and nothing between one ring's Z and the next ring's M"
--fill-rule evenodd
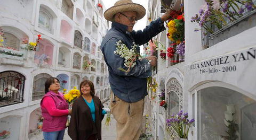
M118 68L127 67L124 66L124 58L114 54L116 44L121 40L129 49L134 45L133 42L138 46L143 45L164 31L163 22L170 18L170 14L165 13L143 31L133 31L134 24L142 19L145 13L142 5L131 0L119 0L104 13L106 20L112 22L112 28L101 43L101 50L108 66L111 90L114 92L110 98L110 110L117 121L117 139L120 140L139 139L144 97L148 94L147 77L151 76L151 66L156 65L156 57L137 59L131 71L123 72ZM139 52L139 47L137 51Z

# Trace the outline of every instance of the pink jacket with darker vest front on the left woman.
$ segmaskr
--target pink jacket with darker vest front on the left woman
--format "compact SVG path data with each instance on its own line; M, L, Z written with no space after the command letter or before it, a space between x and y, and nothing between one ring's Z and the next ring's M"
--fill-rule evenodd
M45 102L44 99L47 99L46 97L52 98L54 101L52 103L55 103L55 104L44 104ZM55 105L55 110L60 110L61 114L53 115L51 113L52 111L50 110L52 108L49 108L49 106L54 107L54 105ZM56 94L52 91L47 92L42 98L40 106L42 110L42 116L44 117L43 128L42 128L43 132L55 132L55 131L63 130L66 128L66 122L67 122L67 116L68 116L68 103L63 98L62 93L58 92L58 94Z

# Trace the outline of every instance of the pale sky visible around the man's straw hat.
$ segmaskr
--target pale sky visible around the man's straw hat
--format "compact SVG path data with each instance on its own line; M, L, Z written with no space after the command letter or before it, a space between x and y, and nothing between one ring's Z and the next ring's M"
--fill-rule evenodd
M110 8L111 6L114 6L115 2L117 0L102 0L103 4L106 7L106 10L108 8ZM148 0L133 0L133 3L138 3L140 5L142 5L143 7L146 8L146 15L139 20L135 25L133 30L137 31L137 30L143 30L146 27L147 24L147 11L148 11ZM105 12L105 11L104 11Z

